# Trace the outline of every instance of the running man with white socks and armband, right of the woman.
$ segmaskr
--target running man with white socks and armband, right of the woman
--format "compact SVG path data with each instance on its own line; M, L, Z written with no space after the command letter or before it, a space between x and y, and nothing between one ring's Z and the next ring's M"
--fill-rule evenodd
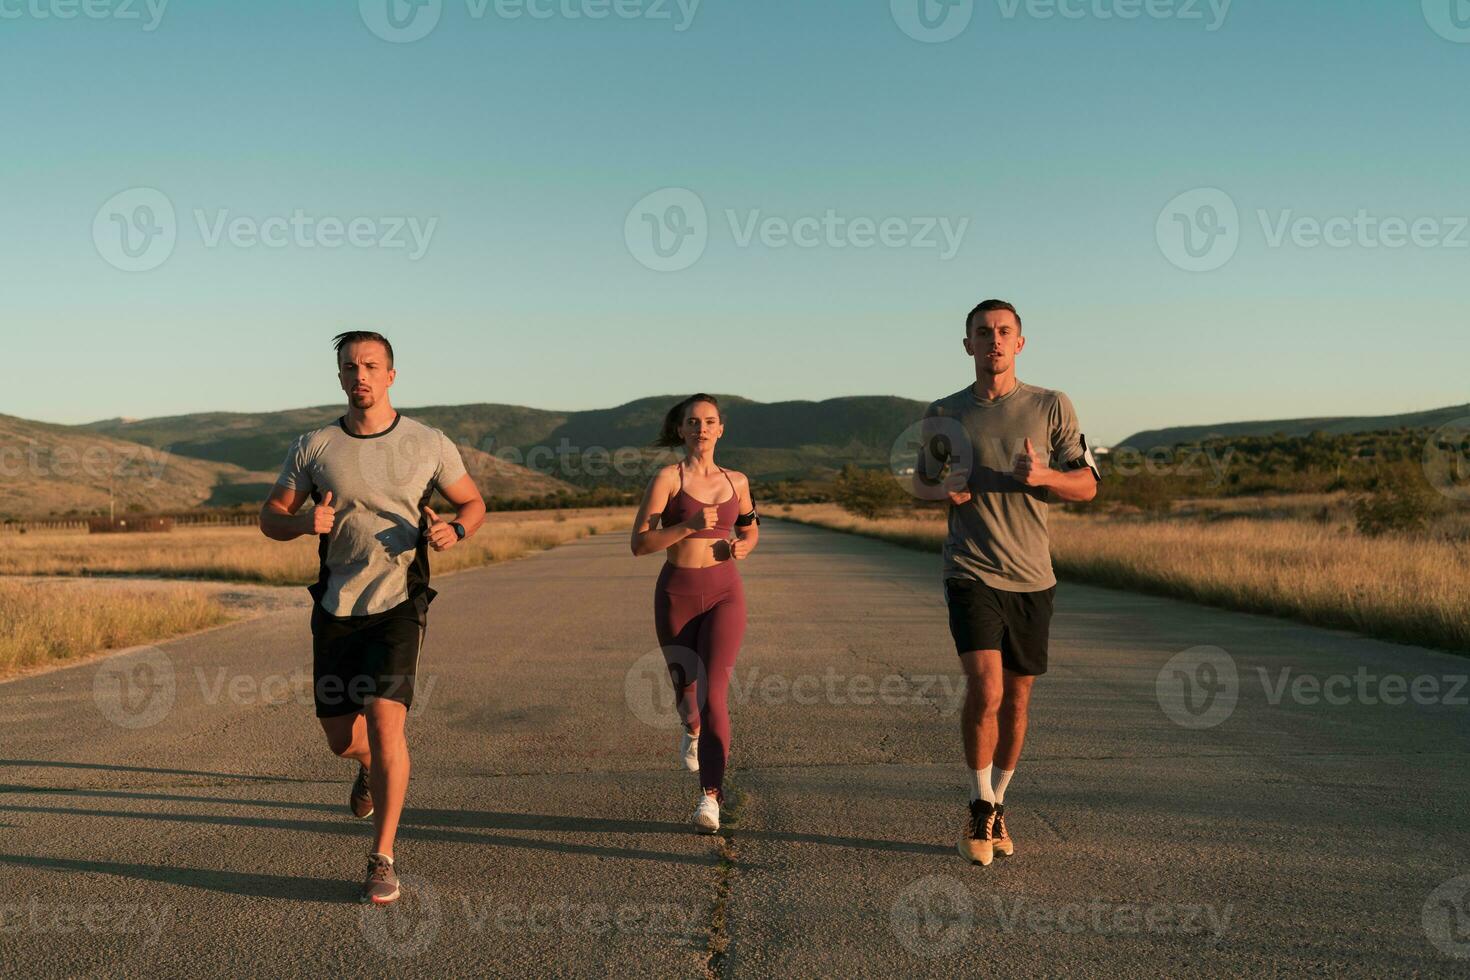
M976 864L1014 854L1005 788L1026 738L1032 683L1047 671L1057 586L1047 507L1092 500L1101 479L1072 401L1016 378L1025 345L1010 303L986 300L970 311L964 351L975 383L929 406L914 464L914 492L948 501L944 592L966 676L961 732L972 776L960 855Z

